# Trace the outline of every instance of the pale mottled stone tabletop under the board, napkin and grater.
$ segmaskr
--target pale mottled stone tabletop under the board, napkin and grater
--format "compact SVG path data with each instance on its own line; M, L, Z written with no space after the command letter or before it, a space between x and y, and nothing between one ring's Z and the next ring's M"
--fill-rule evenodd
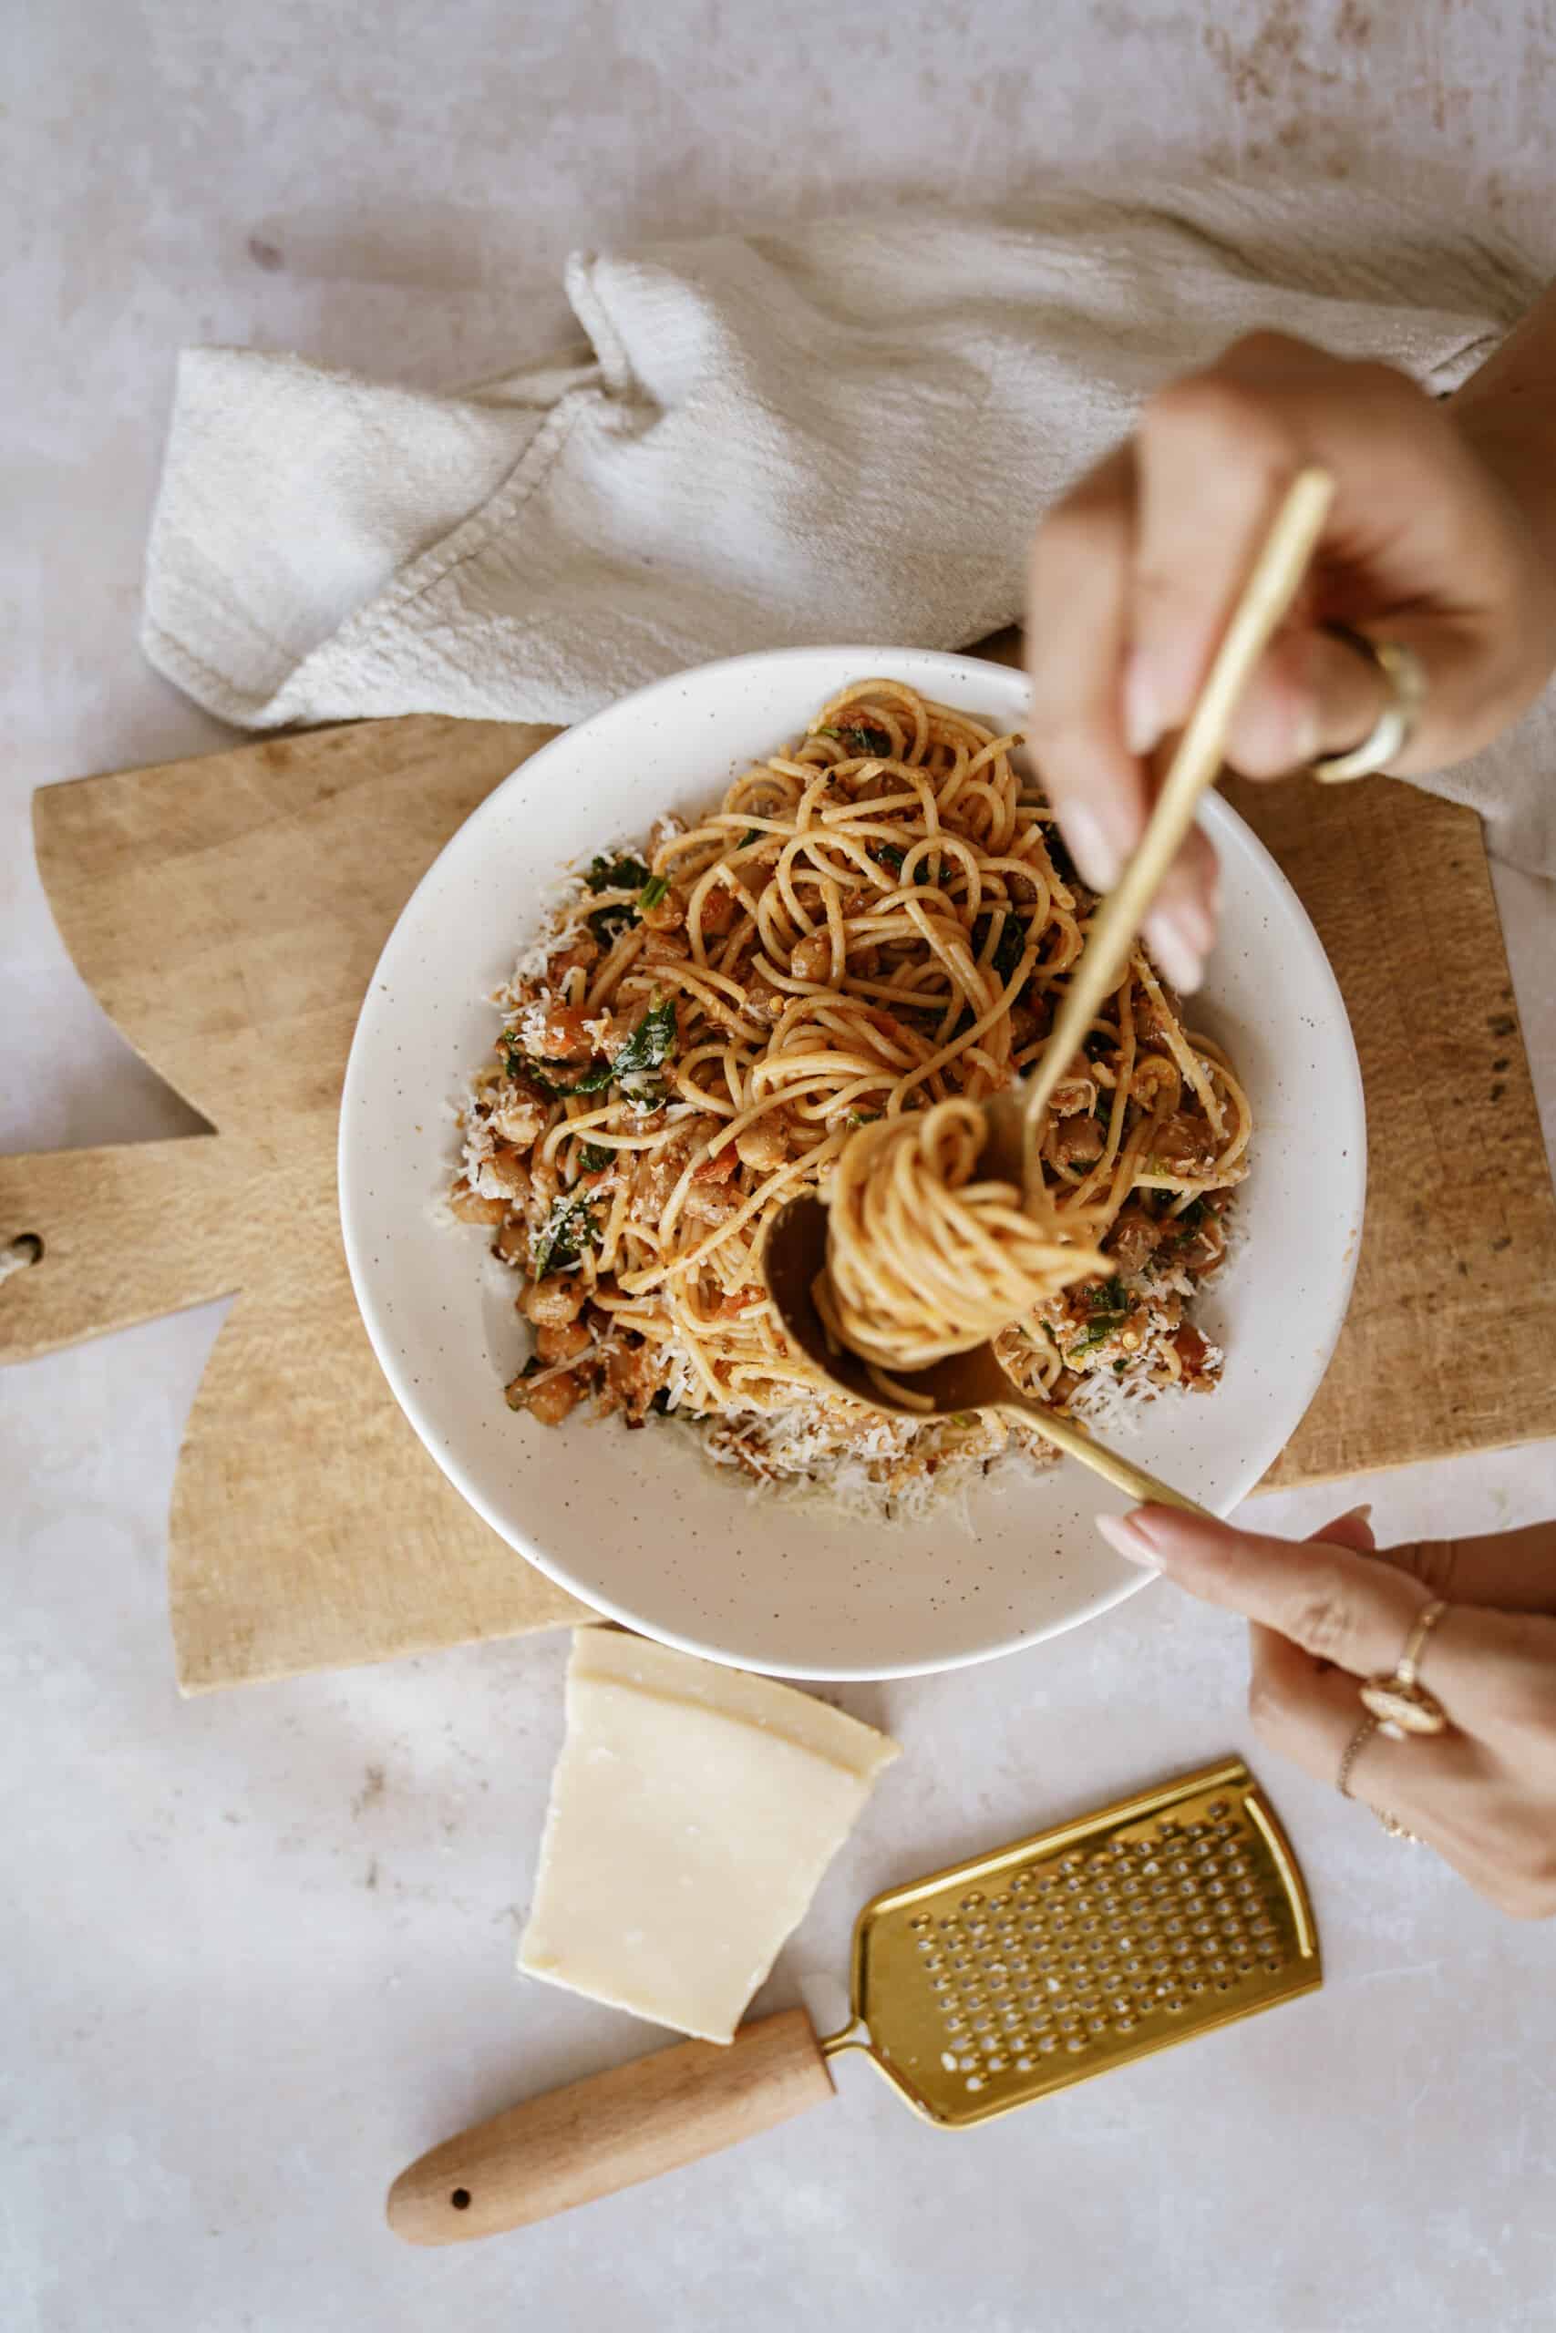
M133 644L180 343L457 383L551 345L574 243L1078 170L1376 168L1549 233L1556 37L1519 0L56 0L0 30L7 1148L189 1127L65 964L26 824L35 784L217 742ZM1556 1129L1556 917L1540 884L1500 896ZM1267 1757L1316 1999L959 2139L844 2062L826 2114L656 2191L394 2244L408 2156L656 2037L511 1971L560 1638L177 1701L163 1521L215 1320L0 1381L7 2326L1551 2324L1551 1934ZM1264 1514L1367 1491L1390 1535L1495 1528L1549 1509L1556 1453ZM1250 1747L1241 1691L1241 1631L1152 1586L1022 1659L840 1696L907 1754L772 1999L842 1976L877 1885Z

